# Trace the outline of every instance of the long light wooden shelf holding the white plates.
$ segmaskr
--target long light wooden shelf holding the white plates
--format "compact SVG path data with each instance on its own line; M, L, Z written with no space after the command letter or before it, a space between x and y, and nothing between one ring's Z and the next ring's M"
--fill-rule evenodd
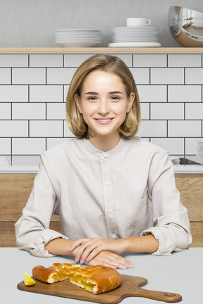
M203 53L203 48L61 48L61 47L24 47L24 48L0 48L0 53Z

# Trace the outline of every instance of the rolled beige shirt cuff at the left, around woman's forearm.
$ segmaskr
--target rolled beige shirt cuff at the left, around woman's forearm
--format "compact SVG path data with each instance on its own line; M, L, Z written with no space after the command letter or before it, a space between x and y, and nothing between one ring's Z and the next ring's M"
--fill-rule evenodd
M49 253L46 249L44 249L44 246L49 243L49 241L52 241L54 239L68 239L66 236L63 236L63 234L60 234L59 232L55 232L51 229L44 229L40 234L36 237L35 241L30 243L30 253L32 255L35 255L37 257L41 258L51 258L56 255L53 255Z

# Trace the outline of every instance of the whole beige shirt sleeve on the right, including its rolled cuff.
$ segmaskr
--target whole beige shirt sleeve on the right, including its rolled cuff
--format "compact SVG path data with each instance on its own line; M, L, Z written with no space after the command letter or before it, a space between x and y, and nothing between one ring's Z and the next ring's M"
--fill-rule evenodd
M176 189L173 165L164 153L161 160L154 156L149 172L149 196L152 199L154 227L142 232L152 234L159 241L154 255L170 255L173 251L183 251L190 247L192 236L187 209L180 201Z

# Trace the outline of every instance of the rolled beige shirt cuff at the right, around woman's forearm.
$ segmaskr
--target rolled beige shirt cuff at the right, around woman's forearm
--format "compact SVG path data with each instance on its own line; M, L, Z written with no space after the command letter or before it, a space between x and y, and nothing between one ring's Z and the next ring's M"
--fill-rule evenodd
M159 242L159 248L152 255L171 255L175 250L176 244L174 243L168 229L164 227L152 227L142 232L141 236L152 234L156 241Z

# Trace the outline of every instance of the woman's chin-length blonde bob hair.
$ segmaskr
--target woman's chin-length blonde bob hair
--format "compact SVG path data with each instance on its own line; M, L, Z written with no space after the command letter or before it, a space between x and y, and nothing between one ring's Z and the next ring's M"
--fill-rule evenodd
M75 94L78 94L80 97L85 77L95 70L102 70L118 75L125 85L128 98L130 98L131 93L135 94L133 106L130 109L130 112L126 113L125 120L119 129L121 136L125 138L135 137L141 122L140 99L137 93L135 80L121 58L108 54L97 54L88 58L80 65L73 75L66 98L66 120L70 131L75 137L78 137L78 139L84 137L88 139L89 137L88 126L77 108L74 96Z

